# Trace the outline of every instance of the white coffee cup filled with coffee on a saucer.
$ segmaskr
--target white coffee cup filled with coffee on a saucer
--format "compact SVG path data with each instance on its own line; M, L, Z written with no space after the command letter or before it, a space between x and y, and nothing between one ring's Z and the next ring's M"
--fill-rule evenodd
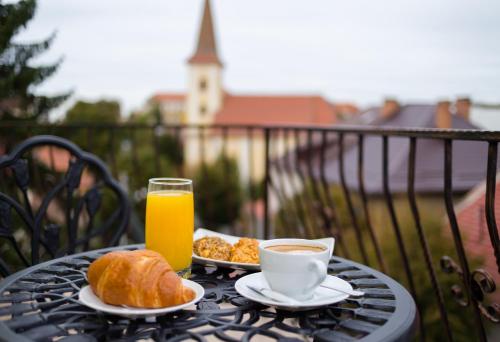
M280 252L272 246L311 246L318 251ZM274 239L259 245L260 268L273 291L297 300L308 300L325 280L330 251L319 241Z

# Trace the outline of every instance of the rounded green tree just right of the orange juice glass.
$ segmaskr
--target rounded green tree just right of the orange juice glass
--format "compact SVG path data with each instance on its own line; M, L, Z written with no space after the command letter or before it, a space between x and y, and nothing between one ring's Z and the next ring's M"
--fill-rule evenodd
M203 224L217 228L239 218L243 199L235 160L221 155L214 164L200 166L194 179L196 212Z

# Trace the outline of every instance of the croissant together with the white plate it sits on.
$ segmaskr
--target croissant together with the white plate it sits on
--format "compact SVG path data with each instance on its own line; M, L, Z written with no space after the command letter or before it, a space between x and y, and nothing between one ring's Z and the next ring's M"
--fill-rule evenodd
M128 318L181 310L205 293L179 277L161 254L145 249L104 254L90 264L87 279L79 293L82 304Z

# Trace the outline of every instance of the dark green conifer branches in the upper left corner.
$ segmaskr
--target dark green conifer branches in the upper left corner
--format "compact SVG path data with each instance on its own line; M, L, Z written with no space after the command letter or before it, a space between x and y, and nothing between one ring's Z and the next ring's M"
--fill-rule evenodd
M61 60L50 65L33 66L30 61L45 52L55 35L36 43L17 43L15 35L25 28L36 10L35 0L4 4L0 0L0 120L46 118L70 93L42 96L34 87L52 76Z

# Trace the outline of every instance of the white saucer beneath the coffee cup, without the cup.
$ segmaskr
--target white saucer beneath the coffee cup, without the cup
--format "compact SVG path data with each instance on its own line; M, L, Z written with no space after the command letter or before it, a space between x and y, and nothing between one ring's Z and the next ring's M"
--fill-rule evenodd
M334 277L328 275L323 282L324 285L329 285L332 287L338 287L340 289L352 290L351 284L342 280L338 277ZM303 310L311 310L314 308L318 308L325 305L334 304L337 302L341 302L349 295L346 295L342 292L338 292L335 290L330 290L324 287L318 287L313 294L313 297L309 300L302 301L300 304L287 304L283 302L277 302L267 297L261 296L258 293L250 290L247 285L253 285L257 288L269 288L266 279L264 278L264 274L262 272L249 274L244 276L241 279L238 279L234 287L236 291L242 295L243 297L253 300L254 302L258 302L268 306L275 306L278 309L288 310L288 311L303 311Z

